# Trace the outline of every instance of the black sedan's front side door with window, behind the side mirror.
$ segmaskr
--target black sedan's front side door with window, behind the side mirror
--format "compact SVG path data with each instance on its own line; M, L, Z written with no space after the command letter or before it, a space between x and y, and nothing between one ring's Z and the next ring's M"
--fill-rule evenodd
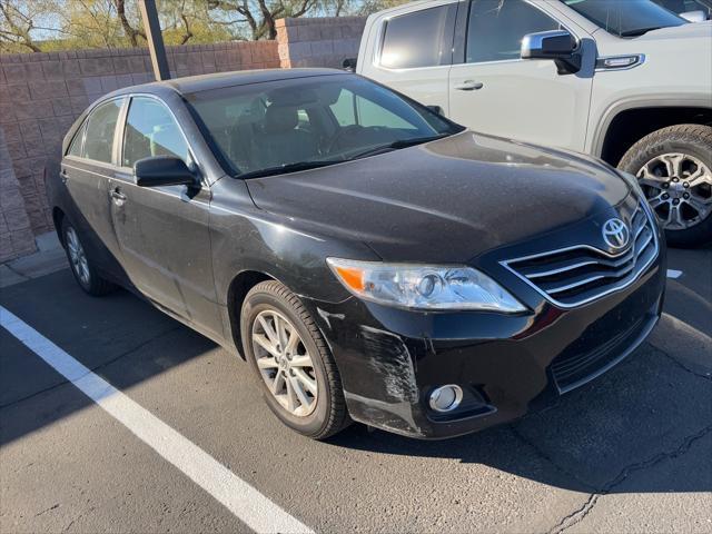
M148 298L198 329L222 334L217 310L207 186L136 185L134 164L176 156L195 167L188 141L168 107L152 96L135 96L120 142L121 167L109 182L111 219L121 265Z

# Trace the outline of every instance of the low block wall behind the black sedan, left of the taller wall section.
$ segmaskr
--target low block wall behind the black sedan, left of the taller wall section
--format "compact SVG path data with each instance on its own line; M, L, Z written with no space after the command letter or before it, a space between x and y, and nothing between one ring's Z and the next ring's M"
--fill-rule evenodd
M172 76L278 68L276 41L168 47ZM152 80L147 49L0 55L0 263L34 251L52 229L44 172L83 109L120 87Z

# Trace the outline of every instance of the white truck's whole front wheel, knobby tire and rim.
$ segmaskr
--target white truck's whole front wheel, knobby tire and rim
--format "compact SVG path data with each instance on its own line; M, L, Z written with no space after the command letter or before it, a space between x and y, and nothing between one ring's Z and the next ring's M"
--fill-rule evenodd
M712 127L654 131L625 152L619 168L637 177L670 245L712 240Z

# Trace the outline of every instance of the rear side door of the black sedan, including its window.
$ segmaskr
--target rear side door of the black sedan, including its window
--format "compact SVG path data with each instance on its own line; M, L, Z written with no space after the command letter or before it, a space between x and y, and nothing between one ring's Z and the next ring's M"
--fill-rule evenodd
M108 180L116 171L116 131L126 98L99 103L72 139L60 178L72 199L69 216L81 233L92 260L119 276L118 244L111 225Z

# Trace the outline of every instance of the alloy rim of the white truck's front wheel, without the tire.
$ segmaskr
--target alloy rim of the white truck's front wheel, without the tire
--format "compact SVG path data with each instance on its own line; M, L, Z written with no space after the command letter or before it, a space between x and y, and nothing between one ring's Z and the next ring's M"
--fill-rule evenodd
M712 172L694 156L657 156L641 168L637 180L666 230L691 228L712 211Z

